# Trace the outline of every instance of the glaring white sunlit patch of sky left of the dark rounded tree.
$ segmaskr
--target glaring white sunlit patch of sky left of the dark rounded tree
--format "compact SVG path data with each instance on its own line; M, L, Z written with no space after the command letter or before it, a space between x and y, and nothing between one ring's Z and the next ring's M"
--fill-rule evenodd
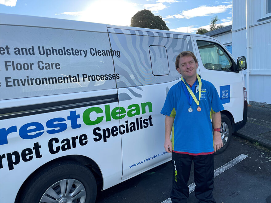
M131 18L139 10L142 10L136 3L122 0L90 2L89 6L83 11L63 12L61 14L77 16L76 20L80 21L129 26L131 24Z

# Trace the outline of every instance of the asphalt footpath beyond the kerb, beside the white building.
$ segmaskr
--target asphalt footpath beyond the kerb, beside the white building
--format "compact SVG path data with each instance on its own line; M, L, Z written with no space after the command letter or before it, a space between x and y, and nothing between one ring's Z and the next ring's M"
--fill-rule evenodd
M246 125L234 134L271 149L271 108L249 105Z

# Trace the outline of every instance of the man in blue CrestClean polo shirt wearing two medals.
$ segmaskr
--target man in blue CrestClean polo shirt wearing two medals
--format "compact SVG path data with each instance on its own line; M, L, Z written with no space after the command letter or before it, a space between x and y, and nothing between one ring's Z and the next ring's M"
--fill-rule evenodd
M181 52L175 66L182 78L170 88L161 111L166 115L164 148L172 153L173 184L170 197L172 203L187 202L187 183L193 160L196 198L199 203L215 202L212 195L213 155L223 147L220 111L224 107L212 83L202 80L196 73L198 61L192 52Z

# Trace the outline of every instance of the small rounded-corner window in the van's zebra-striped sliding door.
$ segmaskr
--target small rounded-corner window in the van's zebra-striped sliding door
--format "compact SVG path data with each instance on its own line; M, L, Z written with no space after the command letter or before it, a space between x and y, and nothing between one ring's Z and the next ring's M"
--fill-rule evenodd
M152 74L168 75L168 54L166 47L164 46L149 46L149 52L151 56Z

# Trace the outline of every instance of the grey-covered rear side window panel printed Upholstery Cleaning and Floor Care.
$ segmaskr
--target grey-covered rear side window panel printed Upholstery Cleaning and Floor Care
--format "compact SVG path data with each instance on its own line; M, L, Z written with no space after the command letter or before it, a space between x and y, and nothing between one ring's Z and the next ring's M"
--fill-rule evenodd
M116 88L112 58L121 53L111 49L108 34L5 25L0 30L10 51L1 55L0 100Z

